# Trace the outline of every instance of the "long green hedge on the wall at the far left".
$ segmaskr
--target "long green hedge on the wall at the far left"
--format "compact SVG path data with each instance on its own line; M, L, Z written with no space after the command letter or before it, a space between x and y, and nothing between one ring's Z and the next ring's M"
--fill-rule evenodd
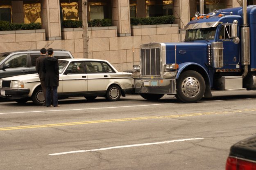
M0 21L0 31L41 29L40 23L17 24L8 21Z

